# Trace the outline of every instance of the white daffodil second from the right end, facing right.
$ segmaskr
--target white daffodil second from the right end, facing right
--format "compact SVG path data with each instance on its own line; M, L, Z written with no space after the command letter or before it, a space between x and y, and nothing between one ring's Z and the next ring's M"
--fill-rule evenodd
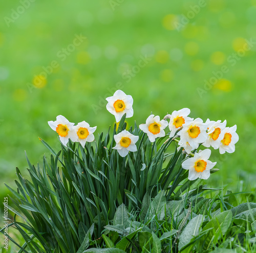
M203 143L203 146L209 148L210 146L214 149L218 149L220 147L221 140L224 138L224 129L226 127L227 121L223 121L221 123L218 121L210 121L207 119L205 122L208 124L208 137L207 140Z

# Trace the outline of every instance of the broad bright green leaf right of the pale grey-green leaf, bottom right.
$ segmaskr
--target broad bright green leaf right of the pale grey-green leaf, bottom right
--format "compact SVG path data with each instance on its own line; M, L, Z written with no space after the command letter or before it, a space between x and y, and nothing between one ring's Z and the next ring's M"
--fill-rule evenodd
M208 247L213 241L218 241L222 235L225 235L231 223L232 212L230 210L222 212L212 218L203 227L203 231L210 229L207 236L205 237L205 247Z

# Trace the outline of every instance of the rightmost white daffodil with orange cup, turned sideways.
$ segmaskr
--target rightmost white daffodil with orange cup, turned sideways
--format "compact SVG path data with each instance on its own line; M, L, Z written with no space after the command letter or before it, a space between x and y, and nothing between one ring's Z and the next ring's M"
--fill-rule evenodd
M236 133L237 131L237 125L234 125L232 127L226 127L224 132L224 137L221 140L220 143L220 153L224 154L225 152L233 153L236 149L234 147L234 144L236 144L239 141L239 136Z

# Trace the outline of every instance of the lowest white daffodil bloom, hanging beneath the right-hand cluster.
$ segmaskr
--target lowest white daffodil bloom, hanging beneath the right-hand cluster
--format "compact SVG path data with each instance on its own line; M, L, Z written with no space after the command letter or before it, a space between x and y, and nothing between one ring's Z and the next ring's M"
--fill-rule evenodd
M194 157L188 158L182 163L182 168L188 171L188 179L196 180L197 178L208 179L210 176L210 169L214 168L217 164L210 162L211 151L210 149L205 149L195 153Z

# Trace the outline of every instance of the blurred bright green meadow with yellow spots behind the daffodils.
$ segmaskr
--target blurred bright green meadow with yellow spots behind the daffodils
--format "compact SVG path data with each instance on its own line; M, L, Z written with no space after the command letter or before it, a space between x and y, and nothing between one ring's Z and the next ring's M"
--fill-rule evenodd
M106 132L104 99L119 88L134 98L130 125L183 107L237 124L236 152L212 152L221 170L207 183L255 189L255 0L12 0L0 13L2 195L26 170L24 150L41 163L38 136L60 148L47 121Z

